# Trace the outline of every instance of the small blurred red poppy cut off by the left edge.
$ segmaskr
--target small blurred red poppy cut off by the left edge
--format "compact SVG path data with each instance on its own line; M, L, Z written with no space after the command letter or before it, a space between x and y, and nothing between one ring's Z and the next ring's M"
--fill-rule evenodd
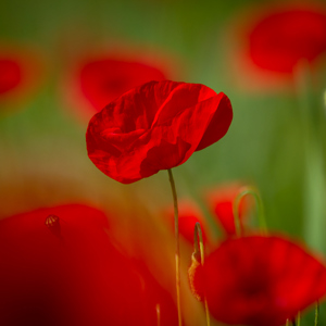
M41 63L26 48L0 45L0 102L24 99L38 84Z

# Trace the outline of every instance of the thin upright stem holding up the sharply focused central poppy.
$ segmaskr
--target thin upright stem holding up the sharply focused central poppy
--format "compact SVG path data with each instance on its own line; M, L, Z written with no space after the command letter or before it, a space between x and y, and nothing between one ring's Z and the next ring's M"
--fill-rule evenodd
M167 170L168 180L171 184L173 205L174 205L174 236L175 236L175 284L177 296L178 310L178 326L183 325L181 319L181 303L180 303L180 246L179 246L179 215L178 215L178 199L175 189L174 178L171 168Z

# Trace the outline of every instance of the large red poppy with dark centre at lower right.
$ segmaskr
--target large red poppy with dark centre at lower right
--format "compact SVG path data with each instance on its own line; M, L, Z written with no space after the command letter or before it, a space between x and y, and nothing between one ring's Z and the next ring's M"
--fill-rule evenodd
M326 268L279 236L228 239L196 271L196 293L230 325L280 326L326 293Z

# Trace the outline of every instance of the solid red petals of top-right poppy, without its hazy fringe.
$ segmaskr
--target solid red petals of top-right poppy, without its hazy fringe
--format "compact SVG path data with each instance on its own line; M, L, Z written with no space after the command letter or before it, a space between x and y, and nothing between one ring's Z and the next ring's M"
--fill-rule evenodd
M326 12L300 4L271 12L252 27L249 49L258 66L292 73L300 60L313 62L326 51Z

